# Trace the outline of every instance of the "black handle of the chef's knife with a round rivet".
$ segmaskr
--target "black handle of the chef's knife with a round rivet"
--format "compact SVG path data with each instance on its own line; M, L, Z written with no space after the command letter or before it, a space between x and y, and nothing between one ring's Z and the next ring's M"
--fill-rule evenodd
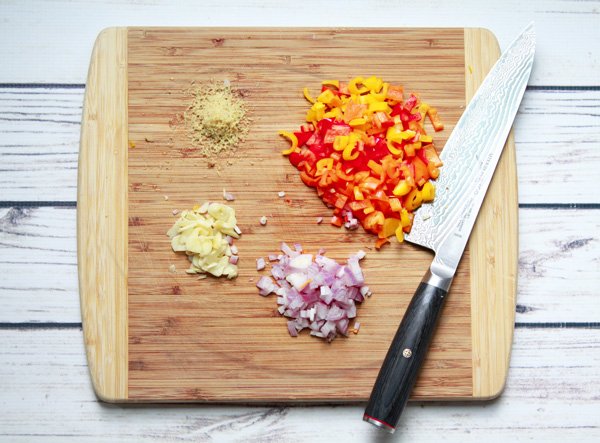
M379 370L363 420L393 433L429 349L452 280L427 273Z

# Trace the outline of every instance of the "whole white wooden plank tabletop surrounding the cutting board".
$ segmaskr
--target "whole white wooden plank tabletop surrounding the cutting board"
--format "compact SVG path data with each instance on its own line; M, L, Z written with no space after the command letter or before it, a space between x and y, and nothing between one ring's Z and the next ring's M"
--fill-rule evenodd
M185 0L0 3L0 441L600 441L600 1ZM387 436L364 405L99 403L83 352L75 213L83 83L115 25L480 26L530 20L515 123L519 285L507 388L409 405Z

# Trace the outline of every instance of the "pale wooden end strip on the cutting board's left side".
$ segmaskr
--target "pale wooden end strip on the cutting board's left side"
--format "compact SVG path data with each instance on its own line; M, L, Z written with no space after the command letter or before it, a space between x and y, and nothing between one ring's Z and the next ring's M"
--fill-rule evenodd
M127 399L127 29L94 43L77 179L77 266L88 366L98 398Z

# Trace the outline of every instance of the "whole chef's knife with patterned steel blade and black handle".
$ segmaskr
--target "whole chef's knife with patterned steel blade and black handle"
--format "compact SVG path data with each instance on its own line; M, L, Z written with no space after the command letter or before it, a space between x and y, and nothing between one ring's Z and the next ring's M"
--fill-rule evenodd
M423 363L444 299L527 86L535 50L530 24L498 59L442 151L432 204L415 212L405 239L435 257L379 371L363 419L394 432Z

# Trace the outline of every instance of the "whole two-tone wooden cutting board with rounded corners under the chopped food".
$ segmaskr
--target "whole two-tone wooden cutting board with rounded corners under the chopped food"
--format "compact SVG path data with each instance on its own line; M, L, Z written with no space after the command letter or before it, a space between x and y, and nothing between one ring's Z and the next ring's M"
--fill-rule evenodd
M483 29L111 28L92 55L83 112L78 262L94 388L107 401L366 400L404 310L432 259L410 244L373 248L362 230L316 224L325 208L280 155L321 80L377 75L419 92L446 129L442 148L499 55ZM251 129L210 167L178 124L185 91L231 81ZM135 147L133 147L135 146ZM443 170L442 170L443 173ZM204 201L236 200L239 276L197 280L166 231ZM279 198L278 191L286 197ZM267 226L259 218L268 217ZM358 334L332 343L288 335L255 259L281 241L343 261L359 249L373 290ZM169 267L175 265L177 272ZM487 399L506 378L515 312L517 190L509 139L459 267L413 398Z

